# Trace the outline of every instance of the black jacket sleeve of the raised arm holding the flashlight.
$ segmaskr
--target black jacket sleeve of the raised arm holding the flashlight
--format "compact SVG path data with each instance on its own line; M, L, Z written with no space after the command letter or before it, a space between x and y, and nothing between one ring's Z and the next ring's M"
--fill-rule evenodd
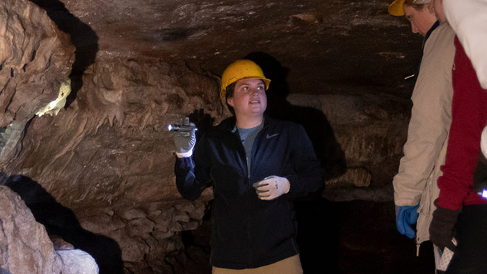
M187 200L196 200L205 188L211 186L209 161L205 159L202 140L196 144L192 156L177 158L174 166L177 191ZM198 166L196 166L198 165ZM196 176L198 175L198 177Z

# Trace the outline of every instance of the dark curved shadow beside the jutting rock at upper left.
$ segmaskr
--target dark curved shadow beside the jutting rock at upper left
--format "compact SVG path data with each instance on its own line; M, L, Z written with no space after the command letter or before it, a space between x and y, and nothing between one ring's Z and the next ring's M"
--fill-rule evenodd
M77 92L83 86L83 72L89 65L95 63L98 51L98 35L79 18L70 13L59 0L29 0L47 11L47 15L58 26L58 29L71 37L71 43L76 48L75 60L70 74L71 93L66 99L66 107L76 98Z

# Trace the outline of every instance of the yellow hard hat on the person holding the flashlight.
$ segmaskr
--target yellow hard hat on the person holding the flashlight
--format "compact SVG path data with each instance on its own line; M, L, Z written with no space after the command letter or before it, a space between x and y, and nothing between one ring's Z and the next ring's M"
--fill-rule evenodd
M225 101L226 88L232 83L239 81L240 79L261 79L266 85L266 90L269 88L271 79L267 79L264 76L264 72L255 62L248 59L241 59L231 63L221 75L221 90L220 98Z

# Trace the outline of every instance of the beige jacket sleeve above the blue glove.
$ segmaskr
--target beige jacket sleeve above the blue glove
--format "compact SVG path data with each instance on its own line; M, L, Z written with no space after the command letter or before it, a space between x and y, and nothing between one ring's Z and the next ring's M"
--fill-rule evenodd
M437 29L437 31L445 31ZM398 206L420 203L428 177L440 155L452 122L452 63L454 33L436 33L427 41L420 74L413 91L408 139L399 172L394 176L394 202ZM437 167L439 168L439 167Z

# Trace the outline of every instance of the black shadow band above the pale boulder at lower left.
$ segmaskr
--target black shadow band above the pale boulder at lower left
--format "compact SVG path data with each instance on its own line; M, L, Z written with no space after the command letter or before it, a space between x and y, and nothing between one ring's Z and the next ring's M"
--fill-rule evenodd
M118 243L83 229L71 209L56 202L38 182L23 175L6 177L0 172L0 184L10 187L24 200L35 220L46 227L47 234L59 236L74 248L88 252L97 261L100 274L123 273L122 250Z

